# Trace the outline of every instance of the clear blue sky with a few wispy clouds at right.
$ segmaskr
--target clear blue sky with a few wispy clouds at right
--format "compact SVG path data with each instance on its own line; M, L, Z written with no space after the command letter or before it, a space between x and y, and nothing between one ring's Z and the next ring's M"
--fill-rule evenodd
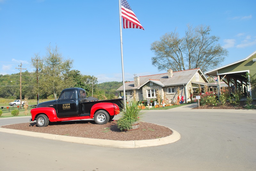
M166 73L151 64L150 45L187 25L210 26L229 52L220 66L256 51L255 0L127 0L141 29L123 29L124 78ZM98 82L122 81L118 0L0 0L0 74L29 72L35 54L57 45L73 68Z

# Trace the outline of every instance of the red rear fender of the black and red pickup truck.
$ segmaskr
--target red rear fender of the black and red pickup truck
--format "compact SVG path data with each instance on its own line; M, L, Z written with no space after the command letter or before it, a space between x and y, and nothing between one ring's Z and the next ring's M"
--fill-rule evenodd
M105 110L108 112L110 116L114 116L120 113L120 109L117 104L115 103L108 103L108 102L102 102L102 103L96 103L92 106L90 117L93 118L94 114L98 110Z

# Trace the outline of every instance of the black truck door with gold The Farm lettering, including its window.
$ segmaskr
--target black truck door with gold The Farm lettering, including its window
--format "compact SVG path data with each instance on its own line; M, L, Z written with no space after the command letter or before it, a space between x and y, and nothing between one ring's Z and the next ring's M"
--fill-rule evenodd
M60 94L57 100L57 116L58 118L77 116L76 99L73 91L66 91Z

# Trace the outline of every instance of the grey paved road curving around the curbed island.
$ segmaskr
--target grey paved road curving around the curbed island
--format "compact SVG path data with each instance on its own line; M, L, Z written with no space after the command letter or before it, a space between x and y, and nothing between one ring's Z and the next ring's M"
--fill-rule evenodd
M256 110L148 111L143 121L170 127L179 141L144 148L111 148L0 132L0 171L254 171ZM28 118L0 119L0 125Z

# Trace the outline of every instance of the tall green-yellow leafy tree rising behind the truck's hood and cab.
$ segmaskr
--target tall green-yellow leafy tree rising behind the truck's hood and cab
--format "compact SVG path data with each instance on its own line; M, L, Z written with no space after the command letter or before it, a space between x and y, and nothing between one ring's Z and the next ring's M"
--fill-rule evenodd
M53 94L57 99L57 93L64 88L73 86L73 81L67 79L67 73L72 67L73 60L63 59L57 46L53 48L49 45L46 51L42 65L37 65L37 67L41 67L39 71L42 74L38 86L41 93ZM35 61L33 65L35 65Z

